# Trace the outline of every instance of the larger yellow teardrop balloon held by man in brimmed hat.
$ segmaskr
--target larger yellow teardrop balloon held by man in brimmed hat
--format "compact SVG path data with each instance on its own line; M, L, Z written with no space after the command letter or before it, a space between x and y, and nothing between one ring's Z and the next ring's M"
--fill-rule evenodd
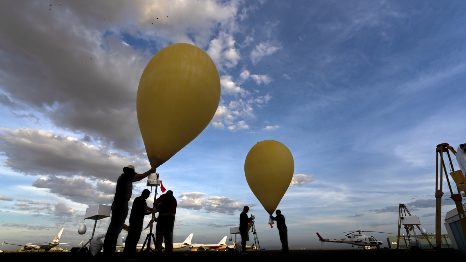
M202 49L173 44L147 64L137 89L137 121L157 168L196 138L220 101L219 72Z

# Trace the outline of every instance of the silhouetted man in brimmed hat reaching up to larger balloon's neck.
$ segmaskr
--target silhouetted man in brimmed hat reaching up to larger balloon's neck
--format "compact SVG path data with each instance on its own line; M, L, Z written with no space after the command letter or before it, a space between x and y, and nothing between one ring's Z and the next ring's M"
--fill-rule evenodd
M128 202L133 193L133 182L144 179L153 172L155 172L155 168L151 168L143 174L137 174L133 165L123 167L123 174L117 180L117 190L111 207L110 225L103 241L103 252L106 254L114 253L115 249L117 249L118 235L123 229L124 221L128 216Z

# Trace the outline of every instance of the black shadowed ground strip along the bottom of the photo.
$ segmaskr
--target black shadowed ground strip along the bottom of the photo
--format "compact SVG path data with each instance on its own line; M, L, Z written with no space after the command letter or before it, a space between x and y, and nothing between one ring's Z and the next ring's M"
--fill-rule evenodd
M396 249L381 249L381 250L345 250L345 249L316 249L316 250L291 250L288 255L283 255L280 251L267 250L267 251L249 251L249 255L232 254L228 251L175 251L172 255L167 256L165 253L161 254L144 254L144 258L139 261L154 261L156 259L170 260L170 261L249 261L249 260L309 260L309 259L322 259L328 261L329 259L373 259L375 261L384 259L392 259L399 261L404 259L419 259L419 258L437 258L443 260L450 260L455 258L466 258L466 250L458 249L442 249L440 251L424 250L421 254L411 254L405 250ZM124 261L123 252L117 252L113 257L105 256L103 253L91 257L89 253L72 254L69 252L24 252L24 253L0 253L1 261ZM135 260L131 260L135 261ZM136 260L137 261L137 260Z

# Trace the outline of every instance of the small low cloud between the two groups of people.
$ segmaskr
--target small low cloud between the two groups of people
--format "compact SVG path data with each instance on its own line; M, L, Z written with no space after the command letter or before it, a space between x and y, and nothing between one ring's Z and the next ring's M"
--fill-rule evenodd
M178 207L185 209L203 210L206 213L218 212L222 214L233 215L235 211L243 210L246 204L237 202L230 197L206 196L206 193L188 192L182 193L178 200ZM255 207L256 204L247 204L249 207Z

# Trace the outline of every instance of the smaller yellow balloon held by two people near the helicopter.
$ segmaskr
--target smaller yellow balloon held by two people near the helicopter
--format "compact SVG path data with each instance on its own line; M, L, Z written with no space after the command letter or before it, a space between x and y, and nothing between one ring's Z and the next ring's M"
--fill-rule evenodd
M253 146L244 161L247 184L268 214L273 214L293 179L295 161L286 145L264 140Z

